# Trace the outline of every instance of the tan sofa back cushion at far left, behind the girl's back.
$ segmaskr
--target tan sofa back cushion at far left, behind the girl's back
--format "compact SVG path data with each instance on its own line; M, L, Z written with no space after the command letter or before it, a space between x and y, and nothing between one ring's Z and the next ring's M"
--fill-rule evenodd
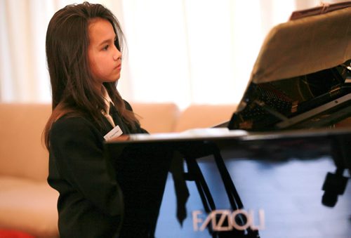
M50 104L0 104L0 175L46 180L41 133L50 114Z

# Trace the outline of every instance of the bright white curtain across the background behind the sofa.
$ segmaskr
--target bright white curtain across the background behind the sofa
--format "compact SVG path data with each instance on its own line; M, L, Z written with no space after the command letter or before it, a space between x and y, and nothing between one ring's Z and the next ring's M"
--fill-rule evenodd
M81 1L0 0L0 101L51 101L45 35ZM126 35L118 89L129 101L238 103L267 32L306 0L105 0ZM336 1L326 1L336 2Z

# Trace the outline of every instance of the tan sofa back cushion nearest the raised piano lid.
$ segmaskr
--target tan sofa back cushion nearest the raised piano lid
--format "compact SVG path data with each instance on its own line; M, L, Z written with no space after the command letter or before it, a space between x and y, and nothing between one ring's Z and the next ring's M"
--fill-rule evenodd
M229 121L237 105L190 105L180 115L174 131L207 128Z

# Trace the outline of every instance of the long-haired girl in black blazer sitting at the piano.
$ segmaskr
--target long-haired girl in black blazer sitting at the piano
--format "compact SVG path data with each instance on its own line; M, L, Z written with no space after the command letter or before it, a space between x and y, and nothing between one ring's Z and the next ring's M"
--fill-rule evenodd
M100 4L66 6L48 25L53 112L44 138L48 183L60 193L61 237L121 234L124 199L112 161L103 156L104 136L146 133L117 92L122 39L119 22Z

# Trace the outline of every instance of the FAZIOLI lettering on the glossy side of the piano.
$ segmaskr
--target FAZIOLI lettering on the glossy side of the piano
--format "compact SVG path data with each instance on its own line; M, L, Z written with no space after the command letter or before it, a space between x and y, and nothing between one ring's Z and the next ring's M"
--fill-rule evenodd
M194 231L204 231L206 227L211 223L213 231L229 231L229 230L263 230L265 229L265 212L263 209L258 210L258 225L255 225L255 219L253 211L245 211L238 209L236 211L230 210L213 210L208 214L204 220L201 217L202 211L192 212L192 225Z

